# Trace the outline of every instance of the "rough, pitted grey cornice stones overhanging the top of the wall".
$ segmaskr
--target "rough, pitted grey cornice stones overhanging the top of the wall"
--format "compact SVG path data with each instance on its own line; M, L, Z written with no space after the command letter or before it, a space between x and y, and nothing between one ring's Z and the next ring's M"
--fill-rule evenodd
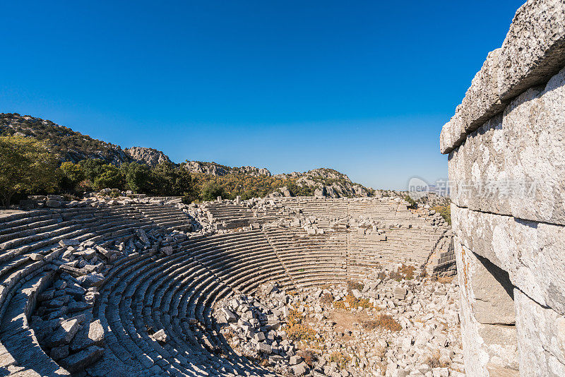
M541 85L565 66L565 4L530 0L516 12L502 47L487 56L456 114L441 129L440 151L451 152L504 104Z

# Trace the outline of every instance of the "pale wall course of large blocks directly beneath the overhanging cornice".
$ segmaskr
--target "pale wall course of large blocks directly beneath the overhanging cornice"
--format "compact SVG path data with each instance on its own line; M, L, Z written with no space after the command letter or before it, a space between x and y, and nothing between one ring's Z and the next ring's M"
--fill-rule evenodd
M555 179L565 176L565 68L470 133L448 161L450 180L462 184L451 186L459 207L565 225L565 181Z

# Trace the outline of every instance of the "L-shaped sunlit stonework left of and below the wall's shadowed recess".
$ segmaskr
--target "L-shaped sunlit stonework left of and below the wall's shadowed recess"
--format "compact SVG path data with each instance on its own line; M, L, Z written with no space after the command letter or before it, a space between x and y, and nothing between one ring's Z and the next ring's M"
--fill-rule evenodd
M480 300L475 297L473 289L479 284L475 280L484 277L484 266L472 251L461 246L458 239L455 246L465 372L468 376L518 376L516 327L477 321L475 311L480 313L483 320L486 318L486 313L482 313L483 308L477 308L477 301Z

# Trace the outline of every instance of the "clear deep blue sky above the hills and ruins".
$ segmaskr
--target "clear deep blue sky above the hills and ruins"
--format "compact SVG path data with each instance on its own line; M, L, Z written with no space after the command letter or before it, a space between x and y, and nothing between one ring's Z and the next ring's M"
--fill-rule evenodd
M439 131L522 1L4 1L0 112L175 162L447 176Z

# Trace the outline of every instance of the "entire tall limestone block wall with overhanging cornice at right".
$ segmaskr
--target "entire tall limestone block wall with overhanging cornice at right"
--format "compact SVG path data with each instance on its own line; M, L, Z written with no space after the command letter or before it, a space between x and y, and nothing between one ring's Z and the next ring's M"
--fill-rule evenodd
M528 1L444 125L468 376L565 376L565 3Z

